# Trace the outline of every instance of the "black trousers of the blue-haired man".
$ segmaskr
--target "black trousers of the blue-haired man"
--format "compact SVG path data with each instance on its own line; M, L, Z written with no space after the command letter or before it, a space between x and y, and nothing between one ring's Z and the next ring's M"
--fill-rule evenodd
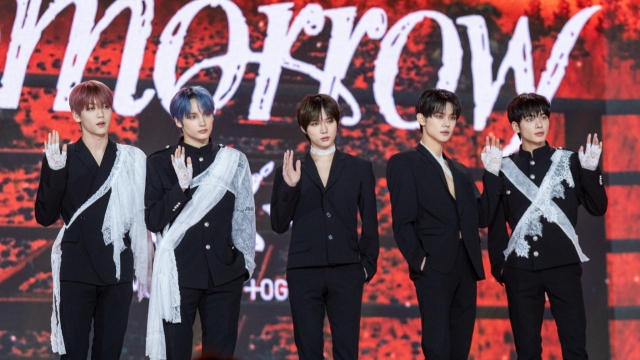
M204 269L203 271L208 271ZM208 289L180 287L180 323L163 322L167 360L189 360L196 311L202 324L202 355L232 357L238 339L238 318L244 275L220 286L209 276Z

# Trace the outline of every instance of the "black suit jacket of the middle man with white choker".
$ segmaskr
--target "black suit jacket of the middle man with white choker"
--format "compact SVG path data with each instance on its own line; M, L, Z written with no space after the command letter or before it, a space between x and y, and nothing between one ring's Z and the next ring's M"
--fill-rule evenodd
M294 188L278 167L271 193L271 228L285 233L291 220L287 269L361 263L367 280L373 278L380 244L371 162L336 150L326 187L309 153Z

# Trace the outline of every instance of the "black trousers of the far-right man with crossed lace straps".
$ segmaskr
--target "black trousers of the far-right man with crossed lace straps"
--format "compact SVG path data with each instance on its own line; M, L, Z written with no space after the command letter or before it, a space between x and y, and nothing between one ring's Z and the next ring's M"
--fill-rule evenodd
M542 319L545 293L556 320L565 360L587 359L587 320L582 297L580 264L530 271L505 266L509 319L518 360L542 359Z

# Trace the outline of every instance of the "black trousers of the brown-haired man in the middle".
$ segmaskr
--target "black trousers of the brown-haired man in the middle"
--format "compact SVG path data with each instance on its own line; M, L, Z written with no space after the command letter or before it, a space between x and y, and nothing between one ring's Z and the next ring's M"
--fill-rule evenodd
M324 316L333 358L358 359L365 272L361 264L287 270L293 334L300 360L323 359Z

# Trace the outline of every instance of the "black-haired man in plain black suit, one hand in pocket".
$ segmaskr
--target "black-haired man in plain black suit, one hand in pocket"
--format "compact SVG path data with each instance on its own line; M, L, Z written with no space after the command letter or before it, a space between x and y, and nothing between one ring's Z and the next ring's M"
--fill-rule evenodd
M389 159L393 234L409 264L422 317L427 359L467 359L476 316L476 281L484 279L478 227L498 206L502 150L486 138L484 194L471 172L443 152L460 117L447 90L422 93L416 113L420 144Z

